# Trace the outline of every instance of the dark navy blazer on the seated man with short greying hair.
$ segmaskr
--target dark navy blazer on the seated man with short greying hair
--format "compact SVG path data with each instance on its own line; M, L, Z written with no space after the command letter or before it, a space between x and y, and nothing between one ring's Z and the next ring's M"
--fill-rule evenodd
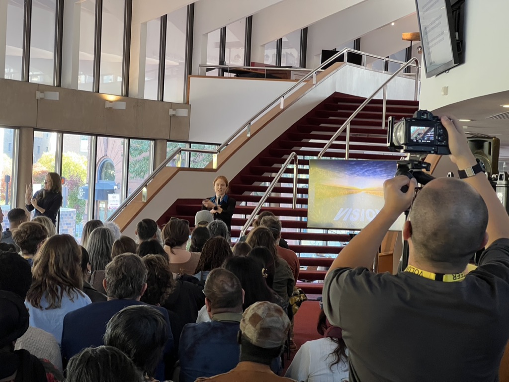
M86 347L97 347L104 345L103 336L106 332L106 325L115 313L120 312L127 306L147 305L135 300L110 300L93 303L83 308L69 312L64 317L64 328L62 331L62 359L64 364ZM168 341L165 354L173 349L173 334L169 324L168 311L165 308L153 306L159 310L168 326ZM162 365L162 362L161 362ZM157 368L157 379L164 379L161 375L161 365ZM164 366L164 365L162 365Z

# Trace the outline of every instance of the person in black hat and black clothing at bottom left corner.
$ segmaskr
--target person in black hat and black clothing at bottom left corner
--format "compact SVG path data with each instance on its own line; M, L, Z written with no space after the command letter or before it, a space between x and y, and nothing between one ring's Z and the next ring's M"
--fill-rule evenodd
M6 382L63 381L62 373L14 343L29 328L29 313L16 293L0 291L0 380Z

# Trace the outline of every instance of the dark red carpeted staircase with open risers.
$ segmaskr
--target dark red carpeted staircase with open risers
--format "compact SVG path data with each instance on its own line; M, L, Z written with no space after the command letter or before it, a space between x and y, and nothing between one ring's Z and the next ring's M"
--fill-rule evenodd
M346 231L307 229L308 159L316 158L330 137L363 101L364 99L359 97L333 94L276 140L267 142L267 147L231 180L229 195L237 200L236 215L232 220L232 240L239 237L240 228L253 211L253 206L260 201L288 155L296 152L299 156L297 209L292 209L291 166L285 171L284 178L274 188L261 211L270 210L281 219L284 231L282 237L288 241L290 249L301 257L301 266L307 267L301 271L301 279L323 280L325 271L320 267L330 265L350 237ZM397 119L410 116L417 110L417 106L416 101L388 100L386 116ZM390 153L387 149L387 130L382 130L381 126L382 101L373 100L351 123L350 159L401 158L401 154ZM331 145L324 158L345 158L345 140L346 131ZM194 215L200 205L199 199L179 199L161 216L158 223L163 225L174 216L187 219L193 225ZM302 283L301 287L306 293L319 294L322 290L321 283L316 282Z

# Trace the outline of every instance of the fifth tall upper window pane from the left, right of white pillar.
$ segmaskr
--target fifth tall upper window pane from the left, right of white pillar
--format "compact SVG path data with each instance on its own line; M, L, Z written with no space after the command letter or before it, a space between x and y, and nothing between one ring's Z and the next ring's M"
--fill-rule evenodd
M147 41L145 53L145 95L147 100L157 100L159 77L159 41L161 19L158 17L147 22Z

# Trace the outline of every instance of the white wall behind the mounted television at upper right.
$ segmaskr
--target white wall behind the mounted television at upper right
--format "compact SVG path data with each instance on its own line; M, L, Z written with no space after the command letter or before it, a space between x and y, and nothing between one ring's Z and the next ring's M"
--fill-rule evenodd
M491 0L489 5L480 1L465 3L465 64L432 78L423 73L421 108L435 110L509 89L509 72L504 68L509 61L504 42L507 14L507 0ZM447 96L441 95L443 86L449 87Z

